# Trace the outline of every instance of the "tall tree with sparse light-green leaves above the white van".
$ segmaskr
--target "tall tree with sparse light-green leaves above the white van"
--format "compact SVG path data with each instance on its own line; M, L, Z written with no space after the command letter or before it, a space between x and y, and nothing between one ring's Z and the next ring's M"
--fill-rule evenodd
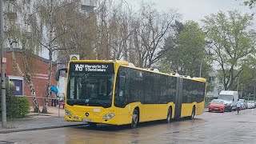
M255 52L255 30L250 30L253 17L237 10L222 11L206 16L202 22L214 61L221 67L221 80L225 90L234 88L242 66Z

